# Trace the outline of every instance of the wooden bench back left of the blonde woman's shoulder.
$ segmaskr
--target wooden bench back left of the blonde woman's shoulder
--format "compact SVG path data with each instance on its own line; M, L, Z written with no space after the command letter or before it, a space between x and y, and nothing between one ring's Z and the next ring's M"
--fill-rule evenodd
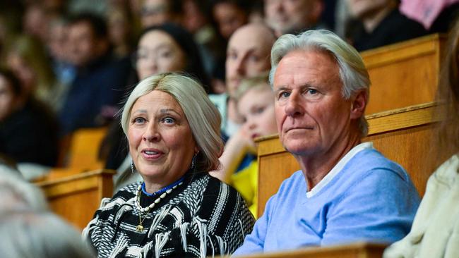
M99 170L77 175L51 175L36 183L42 188L52 211L77 228L93 218L102 197L112 197L114 171Z

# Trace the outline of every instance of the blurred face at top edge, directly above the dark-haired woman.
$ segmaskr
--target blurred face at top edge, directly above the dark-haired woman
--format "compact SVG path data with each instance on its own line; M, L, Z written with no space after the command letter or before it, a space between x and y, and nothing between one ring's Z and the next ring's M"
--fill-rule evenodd
M160 25L162 23L181 23L183 13L181 0L142 0L142 27Z

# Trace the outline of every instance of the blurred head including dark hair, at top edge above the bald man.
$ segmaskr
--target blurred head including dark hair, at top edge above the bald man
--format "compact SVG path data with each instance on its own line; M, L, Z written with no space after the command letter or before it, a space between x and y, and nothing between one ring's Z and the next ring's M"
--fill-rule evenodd
M249 21L249 1L213 0L212 13L220 35L229 39L234 31Z

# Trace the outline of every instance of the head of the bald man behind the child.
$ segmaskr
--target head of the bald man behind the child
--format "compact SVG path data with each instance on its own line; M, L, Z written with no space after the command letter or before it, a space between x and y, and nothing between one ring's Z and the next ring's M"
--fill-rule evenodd
M275 37L268 27L248 24L229 39L226 59L227 92L234 94L242 79L270 69L270 51Z

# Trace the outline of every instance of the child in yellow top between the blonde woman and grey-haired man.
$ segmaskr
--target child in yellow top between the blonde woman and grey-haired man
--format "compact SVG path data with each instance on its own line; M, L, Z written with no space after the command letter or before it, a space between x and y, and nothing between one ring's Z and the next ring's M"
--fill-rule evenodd
M255 138L278 133L274 114L274 93L266 76L243 80L236 92L237 110L244 123L239 131L229 138L220 157L221 171L212 176L232 185L244 197L249 209L257 217L258 162L238 173L237 166L247 152L256 154Z

